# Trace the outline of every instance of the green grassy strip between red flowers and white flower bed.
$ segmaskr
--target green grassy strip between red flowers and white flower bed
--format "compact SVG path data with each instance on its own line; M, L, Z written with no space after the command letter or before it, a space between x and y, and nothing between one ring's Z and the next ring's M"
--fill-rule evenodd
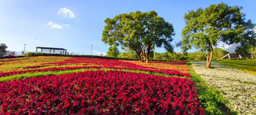
M195 87L198 92L200 103L205 109L206 115L236 115L236 112L230 111L225 105L227 99L222 97L223 92L220 92L213 87L209 87L200 75L196 74L191 63L187 63L189 74L192 80L195 81Z

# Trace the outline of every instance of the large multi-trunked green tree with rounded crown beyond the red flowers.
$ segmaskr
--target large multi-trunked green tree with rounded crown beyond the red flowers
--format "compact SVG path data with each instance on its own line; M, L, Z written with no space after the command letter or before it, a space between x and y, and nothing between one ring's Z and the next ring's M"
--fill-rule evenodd
M102 32L102 41L109 45L122 46L136 52L148 63L149 54L155 47L164 47L172 52L172 35L175 35L171 23L159 17L156 11L131 12L119 14L104 21L107 25Z

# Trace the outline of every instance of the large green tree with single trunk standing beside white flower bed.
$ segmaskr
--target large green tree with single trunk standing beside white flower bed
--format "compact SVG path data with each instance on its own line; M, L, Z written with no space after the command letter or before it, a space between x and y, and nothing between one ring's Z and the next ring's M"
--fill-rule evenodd
M192 47L207 52L207 68L210 68L213 46L217 46L218 42L256 45L253 32L255 24L245 19L241 9L242 7L219 3L186 13L186 26L182 30L183 39L180 42L183 52Z

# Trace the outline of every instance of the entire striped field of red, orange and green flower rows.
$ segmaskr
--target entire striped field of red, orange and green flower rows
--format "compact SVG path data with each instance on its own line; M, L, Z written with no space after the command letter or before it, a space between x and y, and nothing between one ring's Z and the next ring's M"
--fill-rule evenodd
M186 62L152 63L161 66L74 57L0 60L0 114L204 114Z

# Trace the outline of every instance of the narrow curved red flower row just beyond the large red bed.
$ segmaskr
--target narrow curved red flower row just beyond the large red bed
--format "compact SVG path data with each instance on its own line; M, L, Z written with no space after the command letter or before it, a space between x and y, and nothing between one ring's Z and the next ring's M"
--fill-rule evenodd
M188 73L181 73L179 71L162 71L162 70L155 70L155 69L145 69L145 68L136 68L136 67L116 67L116 66L74 66L74 67L53 67L53 68L45 68L45 69L30 69L30 70L20 70L14 72L1 72L0 77L9 76L9 75L17 75L17 74L24 74L29 72L47 72L47 71L62 71L62 70L74 70L74 69L92 69L92 68L111 68L111 69L131 69L131 70L140 70L146 72L158 72L164 73L168 75L178 75L178 76L186 76L191 77Z

